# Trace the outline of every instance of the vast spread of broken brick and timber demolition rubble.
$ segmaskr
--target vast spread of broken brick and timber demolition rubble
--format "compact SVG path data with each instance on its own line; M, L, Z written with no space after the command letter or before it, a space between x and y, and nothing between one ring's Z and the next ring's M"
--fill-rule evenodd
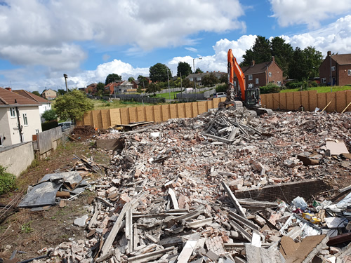
M348 184L307 203L299 196L274 202L235 196L282 182L350 182L350 116L282 112L252 119L227 110L100 135L122 147L98 149L111 162L89 182L98 197L74 221L86 240L39 251L52 250L40 260L351 260ZM345 152L336 154L340 147Z

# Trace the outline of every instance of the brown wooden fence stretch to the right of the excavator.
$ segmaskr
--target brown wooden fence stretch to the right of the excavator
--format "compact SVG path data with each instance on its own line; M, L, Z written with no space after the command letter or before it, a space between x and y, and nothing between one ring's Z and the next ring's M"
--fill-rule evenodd
M351 102L351 90L341 90L335 93L317 93L317 90L297 91L293 93L271 93L261 95L263 107L268 109L297 110L301 105L306 111L320 110L326 107L326 112L343 112Z

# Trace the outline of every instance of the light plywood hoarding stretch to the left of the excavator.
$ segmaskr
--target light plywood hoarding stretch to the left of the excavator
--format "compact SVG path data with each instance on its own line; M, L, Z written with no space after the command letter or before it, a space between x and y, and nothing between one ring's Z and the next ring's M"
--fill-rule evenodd
M88 125L94 128L106 129L111 126L138 121L161 122L175 118L193 118L198 114L207 112L208 109L218 107L218 103L224 101L225 97L219 97L202 102L99 109L84 114L84 118L81 121L77 121L77 126Z

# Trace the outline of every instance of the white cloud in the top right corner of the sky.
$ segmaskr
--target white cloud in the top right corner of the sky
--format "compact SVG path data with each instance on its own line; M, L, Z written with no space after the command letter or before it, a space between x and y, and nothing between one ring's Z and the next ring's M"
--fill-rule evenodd
M282 27L305 24L319 27L323 20L350 13L350 0L270 0L273 15Z

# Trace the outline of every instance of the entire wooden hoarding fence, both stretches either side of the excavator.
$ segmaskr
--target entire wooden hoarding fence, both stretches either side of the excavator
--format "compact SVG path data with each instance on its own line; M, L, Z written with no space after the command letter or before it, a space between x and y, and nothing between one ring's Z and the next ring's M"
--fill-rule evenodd
M262 106L268 109L297 110L301 105L306 111L314 111L316 107L326 112L342 112L351 102L351 90L342 90L335 93L317 93L317 90L298 91L294 93L263 94ZM94 128L106 129L119 124L128 124L138 121L161 122L173 118L193 118L208 109L218 107L225 97L202 102L187 102L179 104L165 104L144 107L130 107L119 109L100 109L87 112L84 119L77 121L77 125L88 125Z

